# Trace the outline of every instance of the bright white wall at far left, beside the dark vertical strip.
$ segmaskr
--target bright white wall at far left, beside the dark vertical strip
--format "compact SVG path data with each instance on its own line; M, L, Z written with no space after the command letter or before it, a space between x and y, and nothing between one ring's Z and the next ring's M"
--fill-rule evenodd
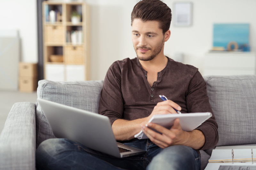
M0 0L0 30L18 30L20 59L37 62L36 0Z

